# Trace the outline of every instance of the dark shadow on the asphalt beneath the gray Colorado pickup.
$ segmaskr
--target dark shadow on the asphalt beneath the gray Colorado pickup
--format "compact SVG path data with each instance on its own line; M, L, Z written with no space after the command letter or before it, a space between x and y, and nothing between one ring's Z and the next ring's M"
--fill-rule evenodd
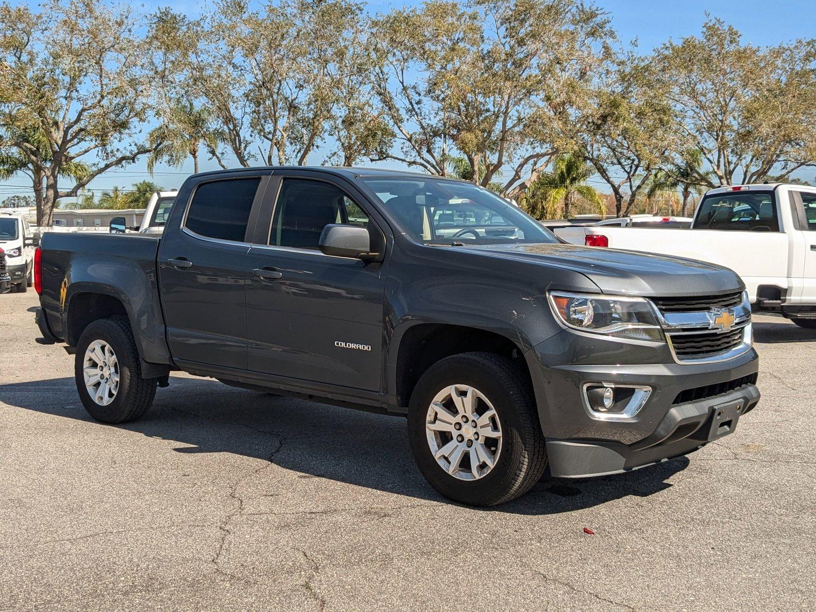
M0 385L0 401L87 422L71 378ZM180 443L175 452L233 453L354 486L450 503L424 481L410 456L405 420L292 397L229 388L214 380L172 377L153 408L117 426ZM534 489L492 511L546 515L591 508L628 495L649 496L689 464L685 457L612 477L571 481L544 477Z

